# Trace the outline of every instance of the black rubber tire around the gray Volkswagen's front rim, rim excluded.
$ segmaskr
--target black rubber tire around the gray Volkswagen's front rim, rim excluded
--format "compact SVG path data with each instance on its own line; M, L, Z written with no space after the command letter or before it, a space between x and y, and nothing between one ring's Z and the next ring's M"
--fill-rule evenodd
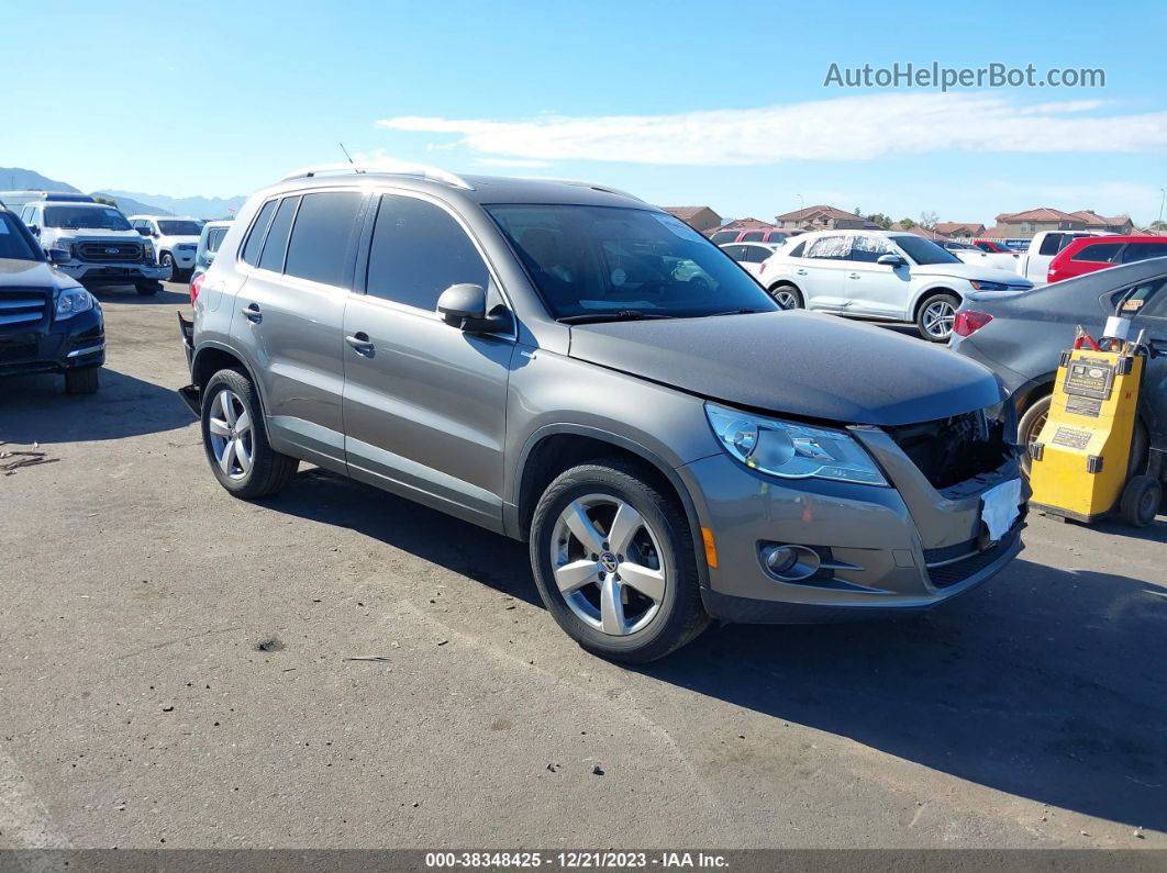
M607 494L635 508L652 528L670 569L656 619L643 631L612 636L581 621L554 583L551 537L564 508L587 494ZM531 523L531 568L536 585L555 622L588 652L616 661L644 663L666 655L691 639L694 606L700 610L697 559L684 515L634 471L587 464L557 478L536 507ZM701 613L704 618L704 613Z

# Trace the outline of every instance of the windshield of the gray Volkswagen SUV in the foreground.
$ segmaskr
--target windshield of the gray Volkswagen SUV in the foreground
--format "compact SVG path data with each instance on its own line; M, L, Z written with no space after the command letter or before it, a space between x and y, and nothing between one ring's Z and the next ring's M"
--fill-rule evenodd
M725 252L670 214L567 204L485 209L555 318L777 309Z

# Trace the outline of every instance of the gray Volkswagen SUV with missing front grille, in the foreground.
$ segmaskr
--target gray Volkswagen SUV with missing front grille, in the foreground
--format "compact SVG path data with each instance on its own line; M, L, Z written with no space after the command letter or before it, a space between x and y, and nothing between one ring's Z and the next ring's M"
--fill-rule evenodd
M925 608L1021 548L988 371L778 311L600 185L302 170L247 202L180 321L224 488L306 460L529 541L551 615L607 657Z

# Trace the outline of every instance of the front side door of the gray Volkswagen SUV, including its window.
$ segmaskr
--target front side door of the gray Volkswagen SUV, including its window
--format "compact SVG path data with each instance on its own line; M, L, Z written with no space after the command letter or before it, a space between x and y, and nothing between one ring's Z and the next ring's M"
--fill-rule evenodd
M502 529L513 332L471 335L436 314L462 282L502 302L477 246L436 203L384 193L364 293L344 311L349 473ZM358 283L359 286L359 283Z

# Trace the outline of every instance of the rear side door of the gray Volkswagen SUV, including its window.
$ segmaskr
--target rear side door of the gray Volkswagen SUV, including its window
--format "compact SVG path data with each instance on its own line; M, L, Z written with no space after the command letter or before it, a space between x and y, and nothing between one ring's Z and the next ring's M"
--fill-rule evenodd
M265 204L244 244L251 270L231 324L260 382L273 446L341 471L344 304L366 199L314 191Z

